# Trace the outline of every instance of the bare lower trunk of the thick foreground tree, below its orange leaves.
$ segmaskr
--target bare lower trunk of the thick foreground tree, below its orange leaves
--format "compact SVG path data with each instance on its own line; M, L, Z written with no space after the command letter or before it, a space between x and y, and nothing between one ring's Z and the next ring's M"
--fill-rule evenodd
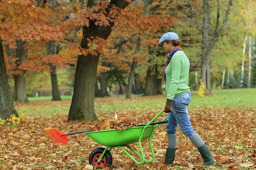
M97 120L94 111L94 92L98 61L99 56L79 56L68 121Z

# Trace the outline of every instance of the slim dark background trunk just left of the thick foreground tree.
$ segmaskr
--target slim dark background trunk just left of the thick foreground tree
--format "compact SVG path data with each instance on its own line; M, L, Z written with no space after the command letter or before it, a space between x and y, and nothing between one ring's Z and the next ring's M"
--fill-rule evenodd
M48 54L55 54L55 41L49 41L46 44L47 53ZM58 53L58 52L56 52ZM52 65L52 63L48 64L51 69L51 83L52 83L52 101L60 101L60 92L57 80L57 73L56 73L56 66Z

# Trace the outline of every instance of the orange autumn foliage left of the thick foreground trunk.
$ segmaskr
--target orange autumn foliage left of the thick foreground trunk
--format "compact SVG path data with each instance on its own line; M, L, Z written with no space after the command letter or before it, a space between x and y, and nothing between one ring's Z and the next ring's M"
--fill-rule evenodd
M75 46L77 42L64 40L71 39L75 32L69 31L63 18L80 8L78 4L74 2L67 5L67 2L62 1L52 10L48 3L39 7L34 0L1 1L0 37L3 44L14 49L14 56L16 40L26 41L24 48L28 50L27 60L19 66L16 65L18 58L8 56L5 52L7 74L21 74L20 70L26 70L26 74L35 74L49 71L48 63L58 67L75 63L79 49L69 50L68 44ZM46 43L49 41L59 44L59 54L47 54Z

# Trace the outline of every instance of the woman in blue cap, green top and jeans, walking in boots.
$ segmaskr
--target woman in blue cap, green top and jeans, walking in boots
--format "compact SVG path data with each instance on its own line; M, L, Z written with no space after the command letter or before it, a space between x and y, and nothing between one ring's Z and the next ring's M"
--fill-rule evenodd
M214 164L209 148L197 134L189 121L187 106L191 100L190 87L188 87L189 60L181 49L181 40L174 32L165 33L159 40L168 52L166 65L163 69L162 79L166 81L167 101L164 112L168 113L166 131L168 134L168 147L164 164L174 165L177 146L176 129L179 125L182 133L197 147L204 159L204 165Z

